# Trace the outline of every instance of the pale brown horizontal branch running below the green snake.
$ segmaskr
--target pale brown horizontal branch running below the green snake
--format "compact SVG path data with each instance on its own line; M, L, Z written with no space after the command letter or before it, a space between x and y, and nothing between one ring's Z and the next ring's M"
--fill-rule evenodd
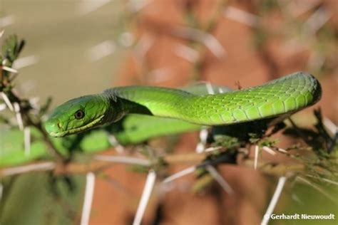
M205 167L210 164L219 164L219 162L205 161L205 157L209 154L204 153L190 153L190 154L177 154L177 155L168 155L163 157L164 162L167 164L198 164L198 167ZM116 157L117 160L113 160ZM105 160L106 158L106 160ZM106 169L107 167L111 167L113 164L130 164L127 159L133 159L135 162L132 163L134 165L138 165L137 160L146 160L135 157L125 157L125 159L121 159L118 155L102 155L100 157L93 157L89 162L69 162L68 164L52 162L52 161L41 161L31 164L26 164L19 167L8 167L4 169L0 169L0 177L13 176L16 174L25 174L28 172L41 172L41 171L52 171L56 175L61 174L86 174L88 172L98 172L102 169ZM202 161L202 163L200 163ZM143 162L143 161L141 161ZM154 162L153 164L148 161L149 164L147 167L157 167ZM245 159L242 162L243 165L247 167L252 167L253 160ZM144 166L144 164L140 164ZM291 164L291 165L283 165L283 164L265 164L263 162L260 163L260 170L263 173L271 174L271 175L283 175L287 172L301 172L304 171L304 164Z

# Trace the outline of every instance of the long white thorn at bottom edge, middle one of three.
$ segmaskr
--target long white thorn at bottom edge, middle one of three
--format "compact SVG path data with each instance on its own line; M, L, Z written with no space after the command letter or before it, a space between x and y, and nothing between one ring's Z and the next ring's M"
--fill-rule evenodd
M145 209L148 205L149 199L150 199L150 194L153 192L153 187L155 185L155 180L156 180L156 173L153 170L150 170L148 172L147 179L145 180L144 188L143 188L143 193L140 199L140 203L138 204L138 210L136 211L135 214L135 219L133 221L133 225L140 225Z

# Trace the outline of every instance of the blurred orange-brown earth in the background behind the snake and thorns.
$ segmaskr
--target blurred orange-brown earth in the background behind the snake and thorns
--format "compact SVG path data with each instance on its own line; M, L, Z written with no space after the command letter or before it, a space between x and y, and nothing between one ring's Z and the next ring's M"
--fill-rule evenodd
M335 3L325 2L332 10ZM257 14L256 6L247 1L231 2L230 6ZM203 44L192 43L175 34L179 27L188 26L187 11L198 15L203 28L219 8L218 1L150 2L135 18L133 32L140 44L130 50L121 66L118 85L180 87L193 80L203 80L237 89L239 84L242 88L260 85L272 78L307 69L309 49L285 48L285 40L280 38L270 38L264 48L255 48L252 41L254 28L225 16L215 16L215 24L208 31L224 48L224 52L216 53L217 56ZM337 14L330 20L337 25ZM263 22L278 27L282 19L279 15L272 15ZM192 53L199 57L197 62L190 60L194 57L180 56L178 49L183 45L197 49ZM302 112L302 117L308 120L312 110L320 107L326 117L337 123L337 69L319 78L322 100ZM175 152L193 152L197 142L198 133L183 135ZM290 143L292 140L286 140L281 145ZM170 167L168 174L190 165ZM156 215L160 224L260 224L276 183L269 182L260 172L248 167L222 165L219 169L235 194L225 193L217 184L201 194L192 194L193 175L178 179L169 187L158 183L146 210L144 224L155 224ZM106 174L111 178L110 182L96 179L90 224L131 224L146 174L130 172L121 165L107 169Z

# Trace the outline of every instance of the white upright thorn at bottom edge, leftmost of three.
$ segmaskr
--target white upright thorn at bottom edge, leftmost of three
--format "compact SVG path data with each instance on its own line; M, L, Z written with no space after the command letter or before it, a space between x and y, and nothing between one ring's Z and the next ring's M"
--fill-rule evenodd
M81 225L88 225L91 216L91 205L93 203L93 195L95 188L95 174L88 172L86 175L86 190L83 201L83 209L81 215Z

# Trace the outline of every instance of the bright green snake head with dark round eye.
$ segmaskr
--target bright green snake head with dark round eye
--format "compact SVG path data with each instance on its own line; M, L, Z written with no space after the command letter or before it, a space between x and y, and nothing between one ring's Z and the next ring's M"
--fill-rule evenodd
M59 105L45 122L49 135L64 137L106 123L108 101L101 95L86 95Z

